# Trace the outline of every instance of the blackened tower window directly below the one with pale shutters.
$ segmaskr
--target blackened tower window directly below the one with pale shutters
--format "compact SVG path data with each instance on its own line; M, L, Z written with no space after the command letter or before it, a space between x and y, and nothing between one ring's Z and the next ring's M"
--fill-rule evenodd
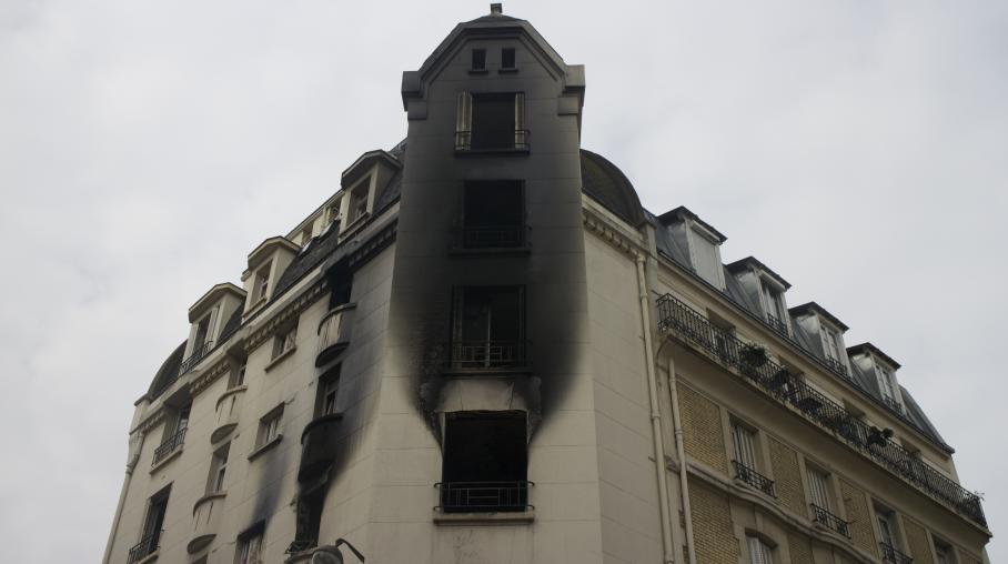
M525 244L525 194L517 180L466 182L462 245L466 249Z

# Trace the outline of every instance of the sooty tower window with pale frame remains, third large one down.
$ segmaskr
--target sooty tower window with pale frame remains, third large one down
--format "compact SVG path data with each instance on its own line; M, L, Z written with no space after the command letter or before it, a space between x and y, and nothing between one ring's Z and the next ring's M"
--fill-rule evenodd
M452 363L490 369L525 363L522 286L455 290Z

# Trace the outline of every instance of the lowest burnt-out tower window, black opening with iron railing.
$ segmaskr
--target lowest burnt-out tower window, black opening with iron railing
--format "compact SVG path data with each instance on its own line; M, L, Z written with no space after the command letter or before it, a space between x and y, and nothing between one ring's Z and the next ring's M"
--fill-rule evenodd
M527 460L525 412L446 413L441 510L525 511Z

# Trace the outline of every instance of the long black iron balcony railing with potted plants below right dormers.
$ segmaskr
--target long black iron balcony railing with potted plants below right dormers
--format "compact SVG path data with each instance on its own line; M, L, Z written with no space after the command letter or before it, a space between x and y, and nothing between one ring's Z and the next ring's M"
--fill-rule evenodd
M987 526L980 497L928 466L913 453L869 426L844 406L826 397L790 374L784 366L745 354L749 345L717 328L683 301L665 294L657 301L658 329L712 357L759 387L779 403L796 410L807 420L834 433L851 449L874 460L924 493L945 503L961 515Z

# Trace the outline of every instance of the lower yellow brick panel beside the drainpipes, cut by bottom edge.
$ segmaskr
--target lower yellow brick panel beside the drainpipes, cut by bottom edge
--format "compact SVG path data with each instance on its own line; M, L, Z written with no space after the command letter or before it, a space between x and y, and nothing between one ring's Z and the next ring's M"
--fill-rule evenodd
M703 564L738 564L738 538L732 526L728 497L689 483L689 502L693 511L693 536L696 560Z

